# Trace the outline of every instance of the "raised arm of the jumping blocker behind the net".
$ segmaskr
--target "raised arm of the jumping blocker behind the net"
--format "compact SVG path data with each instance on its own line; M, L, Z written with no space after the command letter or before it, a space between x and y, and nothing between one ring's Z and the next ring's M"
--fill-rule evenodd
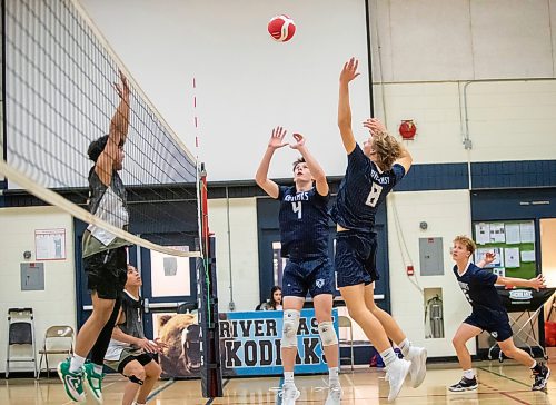
M119 73L121 83L116 83L115 88L120 97L120 103L110 121L108 141L96 165L96 171L105 185L110 184L113 164L118 159L118 148L126 142L129 130L129 86L123 73L121 71Z

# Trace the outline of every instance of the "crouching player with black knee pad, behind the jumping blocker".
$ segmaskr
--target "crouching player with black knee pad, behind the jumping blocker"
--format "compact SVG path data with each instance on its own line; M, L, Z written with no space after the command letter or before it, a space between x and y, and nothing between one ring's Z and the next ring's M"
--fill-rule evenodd
M123 289L120 315L112 330L105 364L129 378L123 389L121 405L145 405L162 369L156 362L156 354L166 345L145 337L142 326L142 285L137 268L128 265L128 280ZM137 396L137 401L136 399Z

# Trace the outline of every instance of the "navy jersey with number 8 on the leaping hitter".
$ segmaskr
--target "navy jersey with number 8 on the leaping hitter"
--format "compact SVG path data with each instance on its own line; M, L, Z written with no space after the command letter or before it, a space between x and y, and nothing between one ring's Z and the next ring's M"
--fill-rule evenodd
M346 229L371 231L378 207L405 174L398 164L381 172L356 144L330 213L332 220Z

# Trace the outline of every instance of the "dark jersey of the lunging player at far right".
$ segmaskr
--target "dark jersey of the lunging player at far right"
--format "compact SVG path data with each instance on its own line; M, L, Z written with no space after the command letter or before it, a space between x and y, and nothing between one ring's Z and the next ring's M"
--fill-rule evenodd
M500 312L506 313L502 298L494 286L498 278L497 275L484 270L470 261L461 276L457 273L457 266L454 266L454 274L465 297L471 304L474 313L481 315L486 320L493 319L492 317L497 316Z

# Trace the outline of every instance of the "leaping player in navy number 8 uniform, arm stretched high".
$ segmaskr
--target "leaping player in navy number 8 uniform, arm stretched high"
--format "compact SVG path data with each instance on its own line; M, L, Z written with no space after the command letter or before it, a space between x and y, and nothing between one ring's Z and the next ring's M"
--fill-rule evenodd
M355 58L346 62L339 80L338 127L348 154L348 166L331 210L338 230L335 266L337 284L349 315L385 360L390 385L388 401L394 401L408 373L414 387L423 383L427 352L411 346L394 318L375 304L374 281L378 279L378 273L375 264L377 241L373 229L378 207L407 174L413 159L377 119L364 122L370 137L363 144L363 149L357 145L349 105L349 82L359 76L357 66ZM399 346L410 363L396 356L388 338Z

